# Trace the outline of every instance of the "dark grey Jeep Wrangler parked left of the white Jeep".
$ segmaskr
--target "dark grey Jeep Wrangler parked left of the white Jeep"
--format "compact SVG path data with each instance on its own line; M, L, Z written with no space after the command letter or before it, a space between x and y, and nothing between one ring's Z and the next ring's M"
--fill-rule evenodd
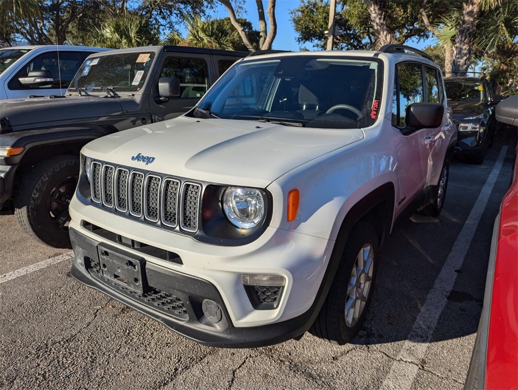
M0 102L0 209L69 247L68 203L87 142L189 111L246 52L154 46L90 55L65 96Z

